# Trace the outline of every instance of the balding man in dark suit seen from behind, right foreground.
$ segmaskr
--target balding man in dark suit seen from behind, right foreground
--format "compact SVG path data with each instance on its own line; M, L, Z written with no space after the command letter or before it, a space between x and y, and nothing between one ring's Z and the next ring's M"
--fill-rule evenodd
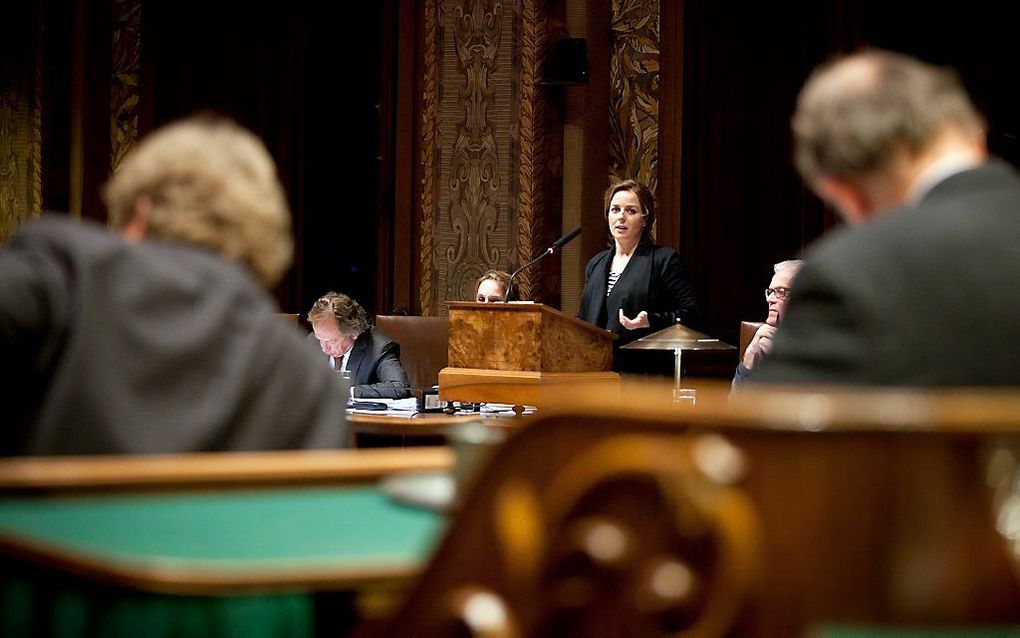
M871 51L817 70L798 168L853 228L808 255L755 381L1020 384L1020 177L956 76Z

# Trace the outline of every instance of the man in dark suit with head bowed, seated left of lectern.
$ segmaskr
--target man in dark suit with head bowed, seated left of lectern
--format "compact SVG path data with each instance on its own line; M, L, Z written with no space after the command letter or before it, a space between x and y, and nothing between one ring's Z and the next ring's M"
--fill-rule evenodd
M345 294L327 292L308 311L309 338L318 341L329 367L351 379L357 398L411 396L400 362L400 344L368 325L365 309Z

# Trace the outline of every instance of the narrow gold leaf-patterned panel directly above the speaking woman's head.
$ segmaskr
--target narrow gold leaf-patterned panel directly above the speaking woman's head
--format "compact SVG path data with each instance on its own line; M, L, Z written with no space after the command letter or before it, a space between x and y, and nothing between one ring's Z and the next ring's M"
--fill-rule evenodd
M612 0L610 177L656 192L659 137L659 2Z

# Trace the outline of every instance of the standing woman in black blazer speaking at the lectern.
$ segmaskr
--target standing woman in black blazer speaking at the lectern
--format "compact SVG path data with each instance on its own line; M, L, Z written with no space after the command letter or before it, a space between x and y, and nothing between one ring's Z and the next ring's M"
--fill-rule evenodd
M577 316L616 333L617 348L676 322L696 321L698 299L679 255L650 238L651 191L633 180L615 184L606 191L605 212L612 248L588 262Z

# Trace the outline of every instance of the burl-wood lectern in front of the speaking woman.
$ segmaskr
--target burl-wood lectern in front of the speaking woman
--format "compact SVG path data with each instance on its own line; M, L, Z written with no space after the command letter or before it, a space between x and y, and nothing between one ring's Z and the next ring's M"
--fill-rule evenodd
M613 333L541 303L450 303L440 400L542 405L565 384L618 391Z

